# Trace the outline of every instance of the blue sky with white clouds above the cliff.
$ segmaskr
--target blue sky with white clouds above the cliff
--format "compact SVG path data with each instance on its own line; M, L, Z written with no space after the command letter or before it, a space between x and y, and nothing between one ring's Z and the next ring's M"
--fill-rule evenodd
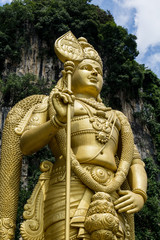
M0 6L12 0L0 0ZM137 62L160 78L160 0L92 0L137 37Z

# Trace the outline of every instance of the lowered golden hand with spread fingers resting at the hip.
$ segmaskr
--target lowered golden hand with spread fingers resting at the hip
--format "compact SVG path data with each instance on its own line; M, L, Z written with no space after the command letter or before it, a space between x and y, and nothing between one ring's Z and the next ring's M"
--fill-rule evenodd
M118 193L123 195L114 202L115 209L119 213L136 213L143 207L144 199L141 195L128 190L120 190Z

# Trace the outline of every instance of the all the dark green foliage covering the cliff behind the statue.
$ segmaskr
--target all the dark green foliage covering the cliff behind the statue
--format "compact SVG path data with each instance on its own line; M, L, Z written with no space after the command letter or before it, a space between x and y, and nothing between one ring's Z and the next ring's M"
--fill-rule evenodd
M136 215L137 240L159 240L159 185L158 164L160 162L160 80L150 70L135 61L138 55L136 37L117 26L110 12L89 4L87 0L14 0L0 7L0 75L6 60L15 66L21 60L21 50L30 47L30 36L38 35L40 57L53 56L54 41L71 30L76 37L84 36L101 54L104 62L104 88L102 96L113 108L121 110L121 96L125 101L141 99L142 110L135 119L150 130L155 155L147 158L149 177L149 200L142 212ZM47 43L47 48L41 42ZM58 75L59 69L57 70ZM58 80L58 79L56 79ZM44 87L45 86L45 87ZM46 94L45 79L32 74L17 76L9 74L0 80L3 106L12 106L20 99L32 94ZM42 158L46 159L46 153ZM37 173L29 179L29 191ZM23 190L21 199L28 193ZM22 204L20 205L22 212ZM17 234L18 239L18 234Z

